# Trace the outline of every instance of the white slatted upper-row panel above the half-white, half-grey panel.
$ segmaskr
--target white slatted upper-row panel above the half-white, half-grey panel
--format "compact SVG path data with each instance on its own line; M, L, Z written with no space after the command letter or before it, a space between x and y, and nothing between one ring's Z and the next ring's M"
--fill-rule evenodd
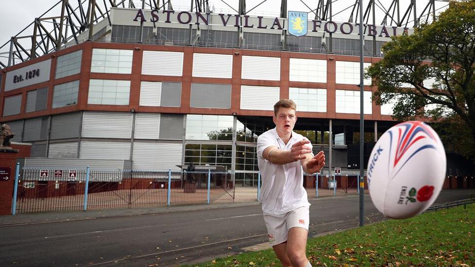
M182 52L144 51L142 74L182 76L182 73Z

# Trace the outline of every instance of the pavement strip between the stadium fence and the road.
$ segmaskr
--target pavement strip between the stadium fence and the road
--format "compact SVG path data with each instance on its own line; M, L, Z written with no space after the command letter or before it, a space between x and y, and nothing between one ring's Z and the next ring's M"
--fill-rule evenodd
M366 190L365 193L368 191ZM307 188L307 195L309 200L316 199L315 188ZM355 196L356 189L348 190L345 193L342 190L337 190L336 196ZM318 197L335 197L333 190L318 189ZM369 196L368 196L369 197ZM72 220L88 220L101 217L121 217L121 216L135 216L142 214L161 214L171 212L186 212L196 210L210 210L222 209L232 207L254 206L260 205L257 202L257 188L255 187L236 187L234 202L229 203L214 203L214 204L200 204L188 206L161 206L161 207L146 207L146 208L131 208L131 209L109 209L109 210L89 210L89 211L67 211L67 212L51 212L51 213L31 213L31 214L16 214L16 215L0 215L0 227L4 225L19 225L32 223L49 223Z

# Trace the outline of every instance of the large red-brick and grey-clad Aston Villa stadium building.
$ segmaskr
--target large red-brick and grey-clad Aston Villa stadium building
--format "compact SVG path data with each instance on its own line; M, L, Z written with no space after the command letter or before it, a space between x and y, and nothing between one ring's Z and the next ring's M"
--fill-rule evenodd
M257 136L274 127L274 103L290 98L295 131L327 155L322 174L341 167L356 177L357 2L346 20L333 19L331 1L323 0L312 11L276 2L280 16L246 13L244 0L234 13L201 0L183 9L170 1L116 2L73 8L60 0L61 15L35 19L28 45L14 36L1 48L0 121L16 134L12 141L32 143L32 158L129 160L134 170L160 171L194 162L223 166L236 186L256 186ZM435 16L434 1L425 13L411 4L404 16L399 1L392 3L386 13L367 5L365 67L381 59L391 36ZM397 122L391 105L371 101L371 79L364 90L370 151ZM348 183L356 187L356 178Z

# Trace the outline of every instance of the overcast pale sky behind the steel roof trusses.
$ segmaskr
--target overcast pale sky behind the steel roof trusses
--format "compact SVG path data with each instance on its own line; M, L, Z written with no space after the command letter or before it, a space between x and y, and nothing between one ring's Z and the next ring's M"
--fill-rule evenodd
M23 28L28 26L33 20L37 17L40 17L43 13L45 13L48 9L54 6L59 0L0 0L1 8L0 8L0 46L6 43L11 36L17 35ZM96 0L98 3L103 2L102 0ZM109 1L109 0L107 0ZM231 5L234 9L237 9L238 0L209 0L210 6L215 7L215 13L220 12L230 12L231 8L228 7L223 1ZM402 9L407 8L407 2L410 0L400 0ZM69 0L73 7L77 7L77 0ZM134 0L137 6L141 6L141 1ZM148 2L148 0L147 0ZM161 2L161 0L160 0ZM172 0L172 4L175 10L183 10L186 7L190 6L190 0ZM246 8L250 10L258 3L262 2L262 0L247 0ZM256 9L253 10L251 15L263 15L263 16L271 16L277 17L280 13L280 0L267 0L263 4L259 5ZM314 9L316 7L317 0L303 0L303 2L307 3L309 7ZM309 8L305 6L305 4L299 0L288 0L288 10L292 11L309 11ZM364 0L364 6L367 5L369 1ZM383 3L384 5L388 5L391 3L391 0L379 0L377 1ZM421 12L422 9L427 4L428 0L420 0L417 1L418 3L418 11ZM354 3L354 0L333 0L333 14L335 14L335 10L342 10L345 9L347 6ZM446 3L436 1L438 7L445 5ZM183 7L183 8L179 8ZM387 6L386 6L387 8ZM55 11L56 10L56 11ZM55 8L55 12L50 12L46 16L59 16L61 5L58 4ZM348 9L347 12L351 10ZM377 9L377 13L383 13L380 9ZM402 10L403 13L405 10ZM349 14L349 13L347 13ZM402 16L403 14L401 14ZM337 15L334 20L339 21L341 19L347 18L348 15L345 13L341 13ZM311 16L309 16L311 17ZM412 18L412 16L411 16ZM379 24L379 23L378 23ZM30 28L29 31L24 32L20 36L32 35L33 34L33 27ZM7 48L8 50L8 48ZM1 49L1 51L5 51L5 47Z

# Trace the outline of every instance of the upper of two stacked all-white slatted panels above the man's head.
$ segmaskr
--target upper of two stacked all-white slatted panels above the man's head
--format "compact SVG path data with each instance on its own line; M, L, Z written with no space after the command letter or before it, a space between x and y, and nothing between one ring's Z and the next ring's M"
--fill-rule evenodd
M241 78L279 81L280 57L243 55Z

